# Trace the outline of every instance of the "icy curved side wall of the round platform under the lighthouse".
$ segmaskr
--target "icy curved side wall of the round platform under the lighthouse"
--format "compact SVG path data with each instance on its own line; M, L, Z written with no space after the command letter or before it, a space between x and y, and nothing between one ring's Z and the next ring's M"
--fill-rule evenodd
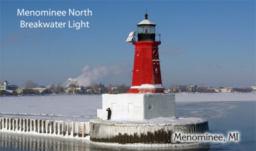
M173 134L202 134L209 131L208 122L191 124L113 124L90 122L90 140L104 143L179 143Z

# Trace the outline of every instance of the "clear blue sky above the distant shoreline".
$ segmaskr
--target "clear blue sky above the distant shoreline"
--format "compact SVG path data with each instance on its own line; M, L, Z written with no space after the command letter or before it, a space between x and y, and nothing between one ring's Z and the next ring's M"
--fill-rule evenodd
M17 17L17 9L84 10L92 17ZM255 1L1 1L0 81L131 85L134 46L148 19L161 33L163 85L255 85ZM20 20L84 20L88 29L20 29Z

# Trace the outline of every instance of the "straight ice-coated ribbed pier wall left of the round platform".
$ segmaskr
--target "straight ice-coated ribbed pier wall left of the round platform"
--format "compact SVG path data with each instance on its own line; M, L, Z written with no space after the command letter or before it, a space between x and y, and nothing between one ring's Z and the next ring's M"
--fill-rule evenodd
M14 119L1 117L0 131L83 138L89 134L89 124L88 122Z

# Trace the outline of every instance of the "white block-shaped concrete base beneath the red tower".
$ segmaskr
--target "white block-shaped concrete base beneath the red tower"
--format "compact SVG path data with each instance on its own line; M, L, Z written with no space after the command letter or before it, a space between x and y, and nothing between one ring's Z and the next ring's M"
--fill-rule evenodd
M102 94L102 113L97 117L111 120L144 120L156 117L175 117L174 94Z

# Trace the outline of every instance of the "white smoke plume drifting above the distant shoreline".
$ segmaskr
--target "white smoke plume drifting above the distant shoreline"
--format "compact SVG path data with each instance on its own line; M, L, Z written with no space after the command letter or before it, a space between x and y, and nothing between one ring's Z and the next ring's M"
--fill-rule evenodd
M89 86L93 82L99 82L102 78L106 76L120 75L123 72L121 64L114 64L113 66L96 66L90 69L89 65L84 66L82 69L82 75L77 76L77 78L68 78L67 82L63 83L63 86L67 87L71 83L79 86Z

